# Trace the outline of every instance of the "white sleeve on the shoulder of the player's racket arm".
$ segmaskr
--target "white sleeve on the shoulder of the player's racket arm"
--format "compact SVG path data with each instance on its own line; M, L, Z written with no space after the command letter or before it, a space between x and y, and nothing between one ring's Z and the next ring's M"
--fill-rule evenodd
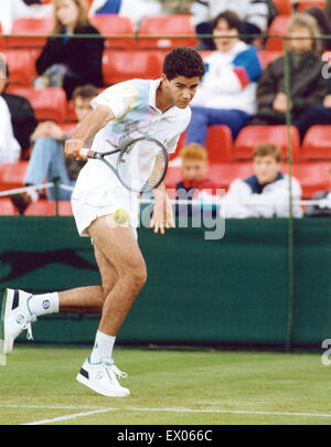
M119 83L106 88L99 96L92 100L92 107L107 106L116 119L120 119L128 111L137 107L138 92L131 81Z

